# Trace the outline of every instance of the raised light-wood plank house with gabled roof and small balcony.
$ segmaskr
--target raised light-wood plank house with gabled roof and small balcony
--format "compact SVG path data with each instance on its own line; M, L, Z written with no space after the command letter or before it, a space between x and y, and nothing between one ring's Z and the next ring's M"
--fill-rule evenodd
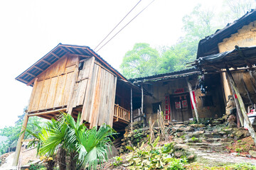
M90 47L59 44L16 80L33 86L28 116L81 113L90 128L106 123L117 130L130 121L130 89L136 86Z

